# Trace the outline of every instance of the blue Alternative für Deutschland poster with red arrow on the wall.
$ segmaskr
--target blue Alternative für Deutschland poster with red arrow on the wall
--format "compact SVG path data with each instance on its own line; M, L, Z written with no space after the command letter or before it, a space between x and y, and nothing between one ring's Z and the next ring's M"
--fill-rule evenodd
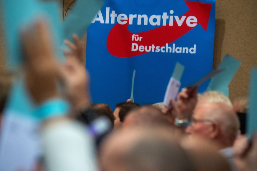
M87 30L93 103L162 102L177 62L181 87L212 71L215 0L106 0ZM206 89L203 83L199 91Z

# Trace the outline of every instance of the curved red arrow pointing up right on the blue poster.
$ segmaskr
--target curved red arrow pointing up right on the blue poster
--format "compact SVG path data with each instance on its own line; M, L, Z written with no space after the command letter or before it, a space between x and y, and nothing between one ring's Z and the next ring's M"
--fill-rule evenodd
M197 25L200 24L206 31L210 17L211 4L195 1L185 1L185 3L187 4L189 11L183 14L183 16L195 16L197 18ZM181 20L181 18L182 16L179 19ZM162 47L165 46L166 43L172 43L194 28L189 27L185 23L178 26L176 22L173 22L173 26L169 26L169 24L167 24L166 26L160 26L149 31L131 33L128 31L128 25L129 19L124 25L116 24L109 32L107 37L107 49L113 56L132 57L147 53L147 51L141 52L131 50L133 34L138 34L142 37L140 45L152 46L154 44L155 46Z

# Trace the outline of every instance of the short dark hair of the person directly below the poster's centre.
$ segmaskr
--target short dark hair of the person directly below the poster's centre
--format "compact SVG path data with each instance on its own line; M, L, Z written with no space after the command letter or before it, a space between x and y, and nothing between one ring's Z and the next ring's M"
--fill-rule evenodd
M115 106L116 108L120 108L119 118L120 118L120 122L123 122L128 112L132 109L139 107L140 105L132 102L122 102L122 103L118 103Z

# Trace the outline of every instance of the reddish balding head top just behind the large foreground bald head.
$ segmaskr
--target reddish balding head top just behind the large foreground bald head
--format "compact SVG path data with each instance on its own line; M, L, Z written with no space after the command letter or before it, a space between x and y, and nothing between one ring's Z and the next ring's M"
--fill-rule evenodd
M142 106L130 111L124 120L123 127L170 126L168 118L154 106Z

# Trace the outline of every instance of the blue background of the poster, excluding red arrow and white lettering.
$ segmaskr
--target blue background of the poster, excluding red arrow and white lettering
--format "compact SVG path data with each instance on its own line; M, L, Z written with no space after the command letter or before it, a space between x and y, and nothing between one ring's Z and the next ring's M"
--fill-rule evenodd
M193 47L196 44L195 54L186 53L157 53L148 52L139 56L120 58L112 56L107 50L107 36L112 27L117 24L100 24L95 21L87 30L87 56L86 68L91 76L91 95L93 103L107 103L112 109L115 104L130 98L133 70L136 70L134 83L135 103L153 104L162 102L170 76L176 62L185 66L181 78L181 88L193 83L212 70L213 46L215 29L215 0L196 2L211 3L210 18L207 31L200 24L195 26L185 35L169 44L175 43L176 47ZM110 7L110 13L115 10L116 14L146 14L162 15L169 14L182 16L189 8L183 0L133 0L105 1L101 12L105 20L106 7ZM128 30L138 33L155 29L160 26L148 24L129 25ZM156 35L158 36L158 35ZM206 89L208 82L203 83L199 92Z

